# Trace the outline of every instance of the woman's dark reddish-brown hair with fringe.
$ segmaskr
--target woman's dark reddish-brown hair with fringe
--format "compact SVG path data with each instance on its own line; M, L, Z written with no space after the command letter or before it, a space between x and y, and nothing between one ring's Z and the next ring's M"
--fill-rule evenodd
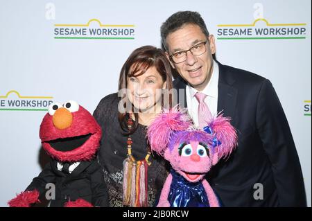
M143 75L150 67L155 67L156 70L159 72L160 76L162 76L162 80L166 82L166 89L170 91L172 86L172 73L171 73L171 66L166 58L166 54L162 49L156 48L154 46L141 46L140 48L135 49L129 56L128 60L126 60L125 64L120 72L119 76L119 91L122 89L128 88L128 78L133 76L141 76ZM162 107L164 107L162 95ZM172 105L172 96L169 96L169 105ZM126 98L126 94L123 94L123 98L121 99L128 99ZM133 105L132 105L133 110ZM132 130L128 130L127 125L127 116L128 113L120 113L119 112L119 123L121 125L121 129L125 132L125 135L133 134L137 130L137 126L139 124L139 116L137 112L135 114L135 125L133 125Z

